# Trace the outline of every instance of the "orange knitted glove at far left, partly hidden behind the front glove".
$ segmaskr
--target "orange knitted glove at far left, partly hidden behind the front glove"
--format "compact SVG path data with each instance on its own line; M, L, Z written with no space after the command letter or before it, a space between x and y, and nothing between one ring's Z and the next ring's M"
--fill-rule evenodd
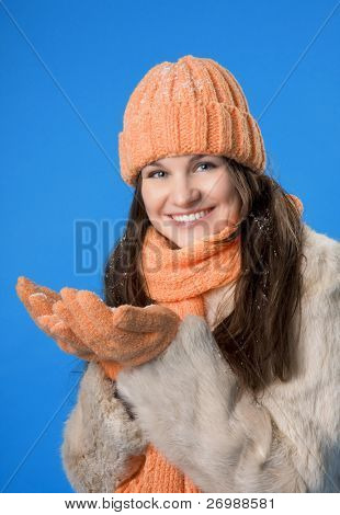
M59 294L24 276L18 278L15 290L37 327L53 337L63 351L82 359L97 359L95 354L54 312L56 304L61 299Z

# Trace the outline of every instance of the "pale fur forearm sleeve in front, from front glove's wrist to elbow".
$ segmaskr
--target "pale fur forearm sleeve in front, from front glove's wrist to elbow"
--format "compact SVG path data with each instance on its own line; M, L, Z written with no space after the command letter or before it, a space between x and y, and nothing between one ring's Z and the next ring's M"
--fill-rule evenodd
M117 376L148 438L203 492L303 492L288 442L243 394L205 320L188 314L157 358Z

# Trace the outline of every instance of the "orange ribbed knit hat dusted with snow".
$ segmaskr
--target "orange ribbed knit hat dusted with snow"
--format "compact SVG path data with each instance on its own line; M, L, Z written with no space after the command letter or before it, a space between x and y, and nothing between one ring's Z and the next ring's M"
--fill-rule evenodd
M260 128L235 77L213 59L181 57L151 68L129 96L118 134L123 180L150 161L214 153L265 170Z

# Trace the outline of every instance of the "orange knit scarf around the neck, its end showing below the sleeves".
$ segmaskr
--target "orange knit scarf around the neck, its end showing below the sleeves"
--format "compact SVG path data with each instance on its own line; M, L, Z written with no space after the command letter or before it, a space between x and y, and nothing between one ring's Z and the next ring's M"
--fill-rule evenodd
M302 213L301 201L294 195L290 196ZM141 261L150 297L175 311L181 319L189 313L205 317L203 295L239 276L240 234L218 245L222 239L234 231L235 227L226 226L220 232L197 240L192 245L171 249L169 241L149 226ZM146 459L137 472L115 490L115 493L123 492L200 493L201 490L150 443Z

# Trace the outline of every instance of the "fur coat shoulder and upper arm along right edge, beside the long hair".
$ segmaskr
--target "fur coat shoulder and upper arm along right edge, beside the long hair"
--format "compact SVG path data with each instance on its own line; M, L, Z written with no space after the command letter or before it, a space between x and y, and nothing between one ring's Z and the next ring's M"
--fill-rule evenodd
M296 449L309 492L340 492L340 243L304 228L304 287L296 367L261 399Z

